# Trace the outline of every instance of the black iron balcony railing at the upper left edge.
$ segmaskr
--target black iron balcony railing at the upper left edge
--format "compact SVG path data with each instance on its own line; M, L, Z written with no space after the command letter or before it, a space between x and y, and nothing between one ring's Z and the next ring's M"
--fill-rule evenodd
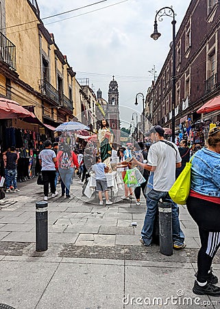
M0 32L0 60L7 63L10 69L16 70L16 47Z

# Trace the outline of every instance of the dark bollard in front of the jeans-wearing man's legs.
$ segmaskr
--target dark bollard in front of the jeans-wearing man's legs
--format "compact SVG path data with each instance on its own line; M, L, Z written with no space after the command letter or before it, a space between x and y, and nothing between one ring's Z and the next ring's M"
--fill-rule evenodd
M164 255L173 254L172 233L172 208L171 203L158 203L159 229L160 229L160 253Z

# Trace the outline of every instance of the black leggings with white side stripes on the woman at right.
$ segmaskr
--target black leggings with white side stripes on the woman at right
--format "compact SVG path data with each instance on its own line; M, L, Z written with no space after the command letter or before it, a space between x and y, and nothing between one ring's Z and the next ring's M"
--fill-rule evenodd
M197 280L206 282L212 260L220 246L220 205L189 196L186 206L199 227L201 240L197 257Z

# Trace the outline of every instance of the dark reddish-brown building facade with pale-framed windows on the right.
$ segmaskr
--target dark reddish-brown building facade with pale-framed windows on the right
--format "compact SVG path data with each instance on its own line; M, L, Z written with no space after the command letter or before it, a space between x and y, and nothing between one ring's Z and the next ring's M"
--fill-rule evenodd
M175 128L187 117L201 118L197 109L220 92L220 3L192 0L176 34ZM158 24L159 27L159 24ZM147 91L149 124L171 128L172 49L156 82ZM218 111L208 115L220 120Z

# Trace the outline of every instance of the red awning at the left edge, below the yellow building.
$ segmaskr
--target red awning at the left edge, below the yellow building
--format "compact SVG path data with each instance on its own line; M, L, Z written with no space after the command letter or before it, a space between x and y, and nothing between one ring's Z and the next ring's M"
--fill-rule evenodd
M34 113L27 111L18 102L0 98L0 119L12 119L12 118L36 118Z

